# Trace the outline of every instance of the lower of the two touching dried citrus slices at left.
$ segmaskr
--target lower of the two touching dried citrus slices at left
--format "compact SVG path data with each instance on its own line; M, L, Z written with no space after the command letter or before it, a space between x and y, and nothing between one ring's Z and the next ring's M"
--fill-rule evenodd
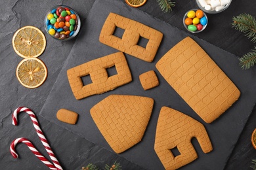
M37 58L25 58L18 64L16 76L26 88L37 88L47 78L47 67Z

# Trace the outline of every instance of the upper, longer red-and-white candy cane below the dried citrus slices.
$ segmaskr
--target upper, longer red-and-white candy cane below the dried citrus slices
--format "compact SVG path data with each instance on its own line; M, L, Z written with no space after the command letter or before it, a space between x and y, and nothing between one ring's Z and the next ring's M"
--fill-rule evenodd
M58 162L56 156L53 153L53 150L51 149L51 146L48 144L47 139L45 138L45 135L43 135L43 131L41 130L39 123L37 122L37 118L33 111L27 107L18 107L16 110L14 110L12 114L12 124L16 126L18 124L17 116L20 112L26 112L30 115L30 118L33 122L33 127L35 127L35 131L37 132L37 135L39 136L39 139L43 143L43 146L45 146L45 150L48 152L51 160L53 161L53 164L55 165L56 169L61 169L60 163Z

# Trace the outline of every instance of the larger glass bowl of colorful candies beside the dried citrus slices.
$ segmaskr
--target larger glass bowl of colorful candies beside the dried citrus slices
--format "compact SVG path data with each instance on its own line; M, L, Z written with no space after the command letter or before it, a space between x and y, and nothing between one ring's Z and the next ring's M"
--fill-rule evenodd
M51 37L61 41L73 39L81 27L80 18L74 9L58 5L45 15L45 30Z

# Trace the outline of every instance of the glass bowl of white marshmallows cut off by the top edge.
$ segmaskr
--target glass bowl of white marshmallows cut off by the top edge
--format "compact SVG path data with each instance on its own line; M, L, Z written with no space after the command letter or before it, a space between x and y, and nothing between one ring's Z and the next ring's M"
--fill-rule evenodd
M227 9L232 0L196 0L198 7L208 14L217 14Z

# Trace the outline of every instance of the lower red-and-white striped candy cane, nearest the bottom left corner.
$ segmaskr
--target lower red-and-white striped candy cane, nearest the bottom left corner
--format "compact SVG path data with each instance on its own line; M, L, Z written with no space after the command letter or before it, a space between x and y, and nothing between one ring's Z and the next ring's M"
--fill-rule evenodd
M18 143L25 143L28 146L28 148L30 148L30 150L33 152L33 154L35 154L35 156L37 156L37 158L39 160L41 160L43 163L45 163L45 165L47 165L47 167L49 167L50 169L56 170L56 167L53 165L53 163L48 161L47 158L45 158L40 152L38 152L38 150L35 148L35 146L33 146L33 144L30 141L28 141L28 139L26 139L24 137L20 137L18 139L15 139L14 141L12 141L11 146L10 146L10 151L11 151L13 158L18 158L18 154L15 149L15 146Z

